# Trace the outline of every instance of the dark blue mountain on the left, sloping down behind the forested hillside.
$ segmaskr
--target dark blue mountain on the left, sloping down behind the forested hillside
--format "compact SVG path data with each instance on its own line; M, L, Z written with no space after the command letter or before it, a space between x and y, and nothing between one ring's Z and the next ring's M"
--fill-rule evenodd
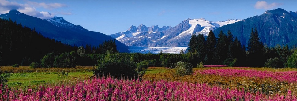
M54 17L51 19L40 19L32 17L24 13L20 13L17 10L11 10L7 14L1 14L1 19L11 19L17 23L21 23L23 26L35 29L43 36L53 38L62 43L76 46L85 46L90 44L91 46L98 46L103 41L114 39L110 36L102 34L100 32L88 31L87 29L67 22L62 17ZM130 52L125 44L122 44L118 40L116 41L117 49L120 52Z

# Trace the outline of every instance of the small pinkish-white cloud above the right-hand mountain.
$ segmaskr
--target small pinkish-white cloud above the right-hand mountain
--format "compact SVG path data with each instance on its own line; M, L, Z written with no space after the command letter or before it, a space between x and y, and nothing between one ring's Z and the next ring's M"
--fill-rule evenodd
M274 8L274 7L277 7L277 6L280 6L282 5L281 3L271 3L271 4L268 4L266 1L257 1L256 4L255 4L255 8L256 9L271 9L271 8Z

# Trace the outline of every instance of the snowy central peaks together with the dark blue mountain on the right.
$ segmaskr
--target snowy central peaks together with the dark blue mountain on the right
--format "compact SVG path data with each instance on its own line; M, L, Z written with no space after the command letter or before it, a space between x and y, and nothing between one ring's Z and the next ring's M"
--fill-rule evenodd
M188 47L192 34L200 33L207 36L208 32L212 30L217 37L221 30L224 33L230 30L242 45L247 46L251 29L257 28L260 41L268 47L274 47L277 44L297 47L296 21L297 12L287 12L278 8L244 20L213 22L204 18L189 18L175 27L164 26L162 28L158 28L158 26L146 27L141 24L138 27L131 26L127 31L110 36L127 46ZM151 30L147 30L149 28Z

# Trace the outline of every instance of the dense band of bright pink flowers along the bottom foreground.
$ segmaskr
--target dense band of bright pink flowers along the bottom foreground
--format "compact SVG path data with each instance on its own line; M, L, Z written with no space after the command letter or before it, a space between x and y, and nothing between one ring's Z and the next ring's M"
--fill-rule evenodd
M289 90L286 96L267 96L260 92L221 88L208 84L147 80L118 80L111 77L78 81L76 84L39 87L36 90L9 90L0 92L0 100L13 101L215 101L215 100L297 100Z

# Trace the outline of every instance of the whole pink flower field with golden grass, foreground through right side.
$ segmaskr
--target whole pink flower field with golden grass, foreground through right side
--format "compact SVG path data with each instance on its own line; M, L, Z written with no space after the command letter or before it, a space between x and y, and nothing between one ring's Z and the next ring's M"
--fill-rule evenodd
M153 67L142 80L69 79L36 88L2 87L0 100L86 101L297 101L297 69L211 67L175 76ZM158 72L160 71L160 72Z

